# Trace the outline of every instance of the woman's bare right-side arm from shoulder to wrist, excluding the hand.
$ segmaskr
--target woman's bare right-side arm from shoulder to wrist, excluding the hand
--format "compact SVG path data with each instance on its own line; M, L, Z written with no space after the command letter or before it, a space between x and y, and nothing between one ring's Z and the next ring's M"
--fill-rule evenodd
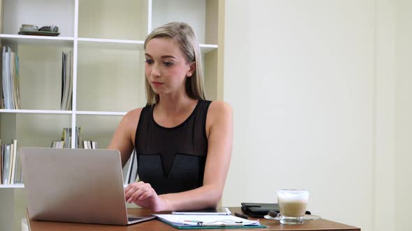
M212 102L206 125L209 132L203 186L182 193L161 195L165 200L165 210L216 207L221 199L233 144L233 112L230 106L222 101Z

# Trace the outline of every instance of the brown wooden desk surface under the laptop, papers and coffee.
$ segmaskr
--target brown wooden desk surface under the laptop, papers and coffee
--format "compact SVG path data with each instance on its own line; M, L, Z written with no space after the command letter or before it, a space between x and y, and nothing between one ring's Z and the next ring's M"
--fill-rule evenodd
M231 212L242 212L240 207L231 207ZM138 216L151 214L151 211L148 209L128 209L129 214L134 214ZM176 231L176 228L173 228L170 225L157 220L145 221L142 223L137 223L135 225L95 225L95 224L82 224L82 223L63 223L63 222L51 222L51 221L33 221L29 219L27 222L29 224L29 230L31 231L47 231L47 230L59 230L59 231L92 231L92 230L159 230L159 231ZM359 230L360 228L355 228L353 226L344 225L341 223L336 223L333 221L328 221L324 219L316 221L307 221L303 225L281 225L279 221L267 220L265 218L260 218L260 223L266 225L267 228L249 228L249 229L216 229L219 230L239 230L239 231L258 231L258 230ZM214 229L215 230L215 229Z

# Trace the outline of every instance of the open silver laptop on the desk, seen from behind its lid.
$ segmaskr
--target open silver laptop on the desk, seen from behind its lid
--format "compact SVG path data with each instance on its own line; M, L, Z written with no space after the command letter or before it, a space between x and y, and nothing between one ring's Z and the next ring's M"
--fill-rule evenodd
M21 148L29 218L129 225L156 216L128 216L117 150Z

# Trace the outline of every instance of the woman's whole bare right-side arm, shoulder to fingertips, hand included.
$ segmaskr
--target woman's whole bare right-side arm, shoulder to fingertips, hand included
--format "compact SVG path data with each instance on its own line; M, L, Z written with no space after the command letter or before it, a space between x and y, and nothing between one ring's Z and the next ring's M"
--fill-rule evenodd
M156 211L216 207L226 182L233 143L233 113L225 102L214 101L207 113L208 150L203 186L181 193L158 196L145 182L129 184L126 200Z

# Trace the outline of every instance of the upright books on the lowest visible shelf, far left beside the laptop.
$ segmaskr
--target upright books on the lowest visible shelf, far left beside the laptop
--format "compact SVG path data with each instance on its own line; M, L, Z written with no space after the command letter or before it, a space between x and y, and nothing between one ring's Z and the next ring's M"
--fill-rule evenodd
M0 141L1 143L1 141ZM1 145L0 149L0 184L22 182L20 158L17 156L17 140Z

